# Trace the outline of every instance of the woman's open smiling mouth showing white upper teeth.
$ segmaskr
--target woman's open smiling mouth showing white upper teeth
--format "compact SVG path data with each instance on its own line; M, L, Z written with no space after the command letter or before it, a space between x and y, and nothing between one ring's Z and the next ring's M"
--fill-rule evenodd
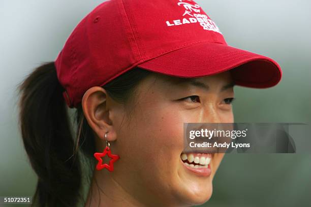
M210 153L181 153L180 159L183 166L196 175L208 177L211 174Z

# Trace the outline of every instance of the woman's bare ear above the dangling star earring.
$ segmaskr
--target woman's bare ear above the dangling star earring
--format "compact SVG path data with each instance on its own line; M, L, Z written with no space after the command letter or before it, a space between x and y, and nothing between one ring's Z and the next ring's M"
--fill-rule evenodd
M99 139L105 141L116 140L115 127L110 119L107 107L107 92L104 88L94 86L89 88L82 97L82 109L89 126L94 130Z

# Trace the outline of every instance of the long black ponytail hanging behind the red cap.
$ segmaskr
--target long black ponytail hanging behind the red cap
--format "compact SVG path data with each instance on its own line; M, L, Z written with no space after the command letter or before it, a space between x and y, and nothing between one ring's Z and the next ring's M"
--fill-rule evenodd
M38 176L33 203L76 206L81 167L54 62L37 67L18 89L23 144Z

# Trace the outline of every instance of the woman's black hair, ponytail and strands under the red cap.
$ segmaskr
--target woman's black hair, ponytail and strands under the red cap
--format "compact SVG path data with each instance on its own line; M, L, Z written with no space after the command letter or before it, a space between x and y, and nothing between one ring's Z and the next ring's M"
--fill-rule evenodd
M138 84L152 72L134 67L102 86L115 101L129 104ZM45 62L18 86L19 126L24 148L38 176L33 206L76 206L83 199L83 167L95 162L95 135L81 103L71 122L54 62ZM77 126L76 131L74 127ZM72 134L75 134L73 137ZM87 168L87 167L86 167Z

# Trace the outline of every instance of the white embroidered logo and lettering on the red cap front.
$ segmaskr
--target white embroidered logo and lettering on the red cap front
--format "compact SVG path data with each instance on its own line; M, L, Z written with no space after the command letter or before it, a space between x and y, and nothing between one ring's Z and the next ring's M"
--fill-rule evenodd
M222 33L215 22L213 22L206 14L201 14L201 7L193 0L179 0L178 6L182 6L185 11L182 19L168 20L167 26L178 26L183 24L199 23L203 29ZM203 12L204 13L204 12Z

